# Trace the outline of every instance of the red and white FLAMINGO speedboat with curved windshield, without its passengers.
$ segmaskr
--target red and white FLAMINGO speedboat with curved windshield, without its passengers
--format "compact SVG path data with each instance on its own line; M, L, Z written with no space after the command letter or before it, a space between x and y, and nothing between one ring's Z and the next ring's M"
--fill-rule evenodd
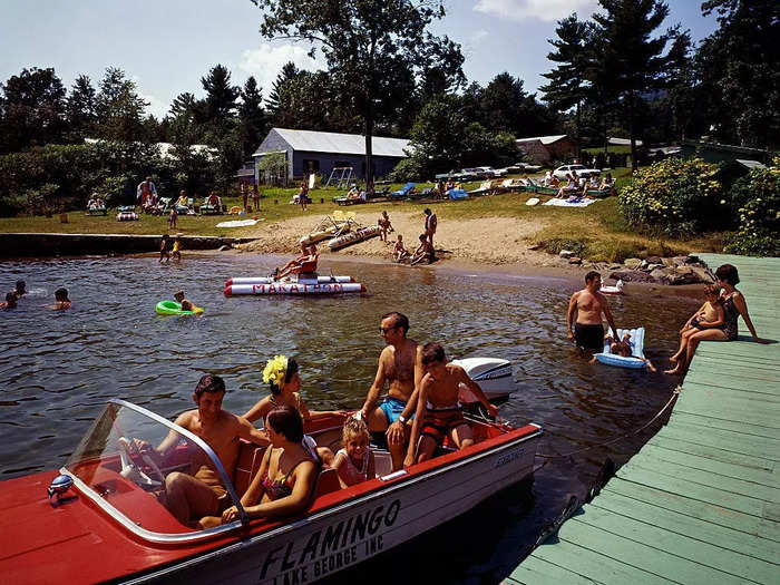
M319 445L338 447L342 422L324 418L309 431ZM413 538L532 474L538 426L471 426L472 447L397 472L389 472L387 454L377 452L378 477L347 489L339 488L335 470L323 470L309 511L289 521L236 520L199 530L179 524L162 504L165 475L209 461L237 501L264 447L243 443L237 470L227 477L198 437L111 400L59 477L48 471L0 484L0 575L14 584L310 583ZM172 430L179 446L159 467L134 450L133 438L157 445Z

